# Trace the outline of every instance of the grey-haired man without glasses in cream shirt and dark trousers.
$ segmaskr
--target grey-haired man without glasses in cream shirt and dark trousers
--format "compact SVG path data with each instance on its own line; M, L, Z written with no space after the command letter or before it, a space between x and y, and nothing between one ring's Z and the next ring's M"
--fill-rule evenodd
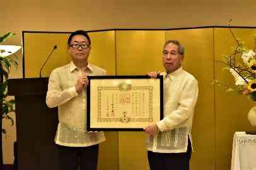
M198 84L194 76L182 69L183 46L169 40L163 46L165 72L148 75L164 77L164 118L144 128L147 136L148 161L151 170L189 169L192 150L192 120L197 102Z

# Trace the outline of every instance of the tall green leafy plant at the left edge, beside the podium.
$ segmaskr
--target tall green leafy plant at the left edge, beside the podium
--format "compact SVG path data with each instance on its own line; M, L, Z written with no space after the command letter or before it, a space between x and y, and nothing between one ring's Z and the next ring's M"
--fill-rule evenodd
M6 35L0 37L0 45L14 35L15 33L6 33ZM11 125L13 125L13 118L9 116L9 113L15 112L15 100L8 99L6 80L9 78L9 69L11 68L11 65L18 66L18 63L13 58L11 58L11 55L3 57L3 52L5 51L0 49L0 116L1 119L10 120ZM3 128L1 130L3 133L6 133L6 130Z

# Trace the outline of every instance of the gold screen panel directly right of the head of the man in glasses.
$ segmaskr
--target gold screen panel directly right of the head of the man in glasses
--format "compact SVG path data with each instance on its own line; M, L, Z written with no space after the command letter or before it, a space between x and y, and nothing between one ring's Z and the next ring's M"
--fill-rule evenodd
M91 54L89 62L115 75L115 31L90 32ZM117 170L119 168L117 132L105 132L106 141L100 144L98 159L99 170Z

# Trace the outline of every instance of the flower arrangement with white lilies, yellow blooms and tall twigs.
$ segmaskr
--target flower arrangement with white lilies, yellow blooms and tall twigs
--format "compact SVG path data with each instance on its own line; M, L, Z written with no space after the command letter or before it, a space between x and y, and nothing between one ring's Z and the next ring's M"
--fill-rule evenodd
M223 55L223 61L219 62L228 66L225 69L228 69L235 78L235 85L228 86L221 81L214 81L214 83L225 86L227 91L235 91L256 101L256 36L253 36L254 47L252 50L247 48L245 43L235 37L231 28L230 32L236 41L236 46L232 47L233 53L231 55Z

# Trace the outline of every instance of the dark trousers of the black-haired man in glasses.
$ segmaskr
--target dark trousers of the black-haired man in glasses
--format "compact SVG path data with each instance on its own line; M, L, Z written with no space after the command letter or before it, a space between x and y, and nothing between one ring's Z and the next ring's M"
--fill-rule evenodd
M57 145L59 169L61 170L96 170L98 161L98 145L89 147L66 147Z

